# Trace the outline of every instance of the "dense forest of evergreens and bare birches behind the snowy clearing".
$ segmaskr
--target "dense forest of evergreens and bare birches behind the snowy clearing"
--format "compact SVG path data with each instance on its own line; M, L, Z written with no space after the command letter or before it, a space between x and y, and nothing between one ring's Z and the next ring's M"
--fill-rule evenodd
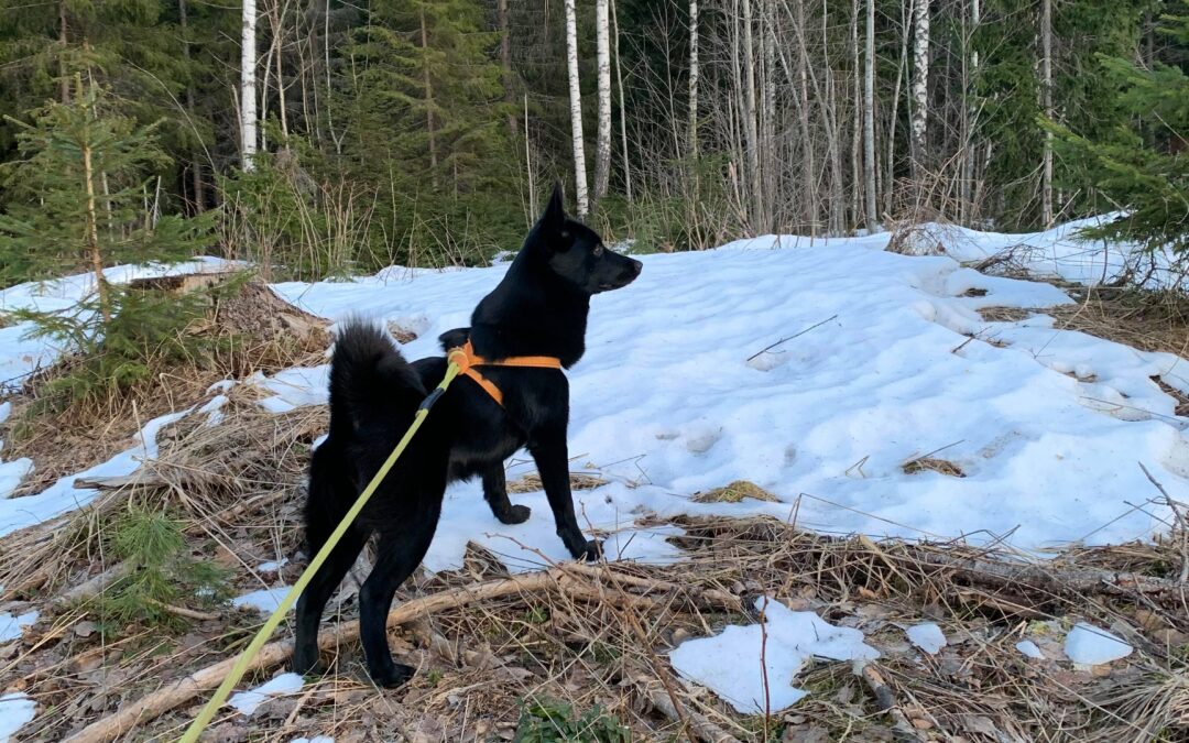
M555 180L636 252L1105 213L1178 248L1187 64L1182 0L4 0L0 287L482 264Z

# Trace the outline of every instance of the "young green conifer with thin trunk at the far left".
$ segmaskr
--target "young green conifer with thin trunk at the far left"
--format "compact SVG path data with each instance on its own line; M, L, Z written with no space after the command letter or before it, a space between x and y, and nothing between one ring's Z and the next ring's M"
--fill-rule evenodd
M76 75L70 102L48 103L31 125L8 119L21 159L2 171L0 284L87 266L109 320L105 266L189 257L209 222L158 216L150 175L170 160L157 127L136 126L108 102Z

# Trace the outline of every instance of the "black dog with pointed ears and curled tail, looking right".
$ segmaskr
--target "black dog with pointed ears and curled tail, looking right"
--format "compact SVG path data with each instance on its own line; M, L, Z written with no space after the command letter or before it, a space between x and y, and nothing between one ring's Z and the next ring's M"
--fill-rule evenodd
M545 355L570 367L585 351L591 295L628 285L641 267L570 220L561 191L554 188L508 273L476 308L471 327L449 330L440 340L446 350L470 340L474 353L487 360ZM385 333L366 323L353 321L340 333L331 364L331 430L310 466L306 504L310 555L322 548L379 470L446 366L441 357L409 364ZM376 531L376 566L359 592L367 670L383 686L397 686L413 675L413 668L392 661L384 624L397 587L429 548L446 484L480 476L496 518L521 523L529 509L508 500L503 462L523 446L536 462L558 536L574 558L598 554L598 544L587 542L578 527L570 493L566 376L560 370L507 366L484 366L482 376L499 389L503 403L472 379L458 378L302 593L292 661L297 673L317 665L322 609Z

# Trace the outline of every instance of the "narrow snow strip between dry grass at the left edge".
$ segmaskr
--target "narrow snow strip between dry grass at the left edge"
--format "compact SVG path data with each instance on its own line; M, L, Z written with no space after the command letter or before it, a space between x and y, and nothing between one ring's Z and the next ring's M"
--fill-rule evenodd
M140 466L140 462L157 456L157 434L161 429L189 413L190 410L187 409L149 421L136 435L137 443L132 448L120 452L94 467L59 478L54 485L34 496L7 498L12 490L0 489L0 537L87 505L99 495L99 491L90 487L75 487L75 480L132 474ZM0 465L0 484L7 481L5 472L14 464L17 462L8 462L7 467ZM11 485L15 487L15 483L11 483Z

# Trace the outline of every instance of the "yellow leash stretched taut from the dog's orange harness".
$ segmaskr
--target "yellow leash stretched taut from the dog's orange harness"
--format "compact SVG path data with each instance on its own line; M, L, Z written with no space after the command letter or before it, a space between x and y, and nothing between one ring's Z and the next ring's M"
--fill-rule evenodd
M218 712L219 707L227 701L227 697L231 695L232 690L235 688L239 680L244 678L244 674L247 672L249 663L251 663L252 659L256 657L256 654L260 651L264 643L269 641L273 630L281 625L281 621L285 617L285 613L289 612L289 607L294 605L297 597L301 596L301 592L304 591L306 586L309 585L309 581L314 579L314 573L322 567L322 563L326 562L326 559L331 555L331 550L333 550L334 546L339 543L342 535L347 533L351 523L357 516L359 516L359 511L361 511L364 505L367 504L367 500L372 497L372 493L376 492L376 489L379 487L379 484L384 480L384 477L388 476L392 465L395 465L396 460L404 453L405 447L409 446L409 441L413 440L414 434L417 433L417 429L421 428L421 423L429 415L429 409L435 402L438 402L438 398L442 396L446 388L449 386L449 383L454 380L454 377L458 376L459 365L455 361L457 353L460 352L458 350L451 351L449 366L446 367L446 376L442 378L441 383L434 388L434 391L430 392L424 401L422 401L421 405L417 408L417 414L413 417L413 424L409 426L409 430L404 432L404 436L401 439L400 443L396 445L396 448L392 449L392 453L388 455L388 459L384 460L384 464L380 465L376 476L372 477L370 483L367 483L367 487L359 493L359 498L356 500L354 505L351 506L351 510L347 511L347 515L342 517L342 521L339 522L339 525L334 528L334 531L331 533L331 537L326 540L326 544L322 544L322 549L317 550L314 559L309 561L309 566L306 568L306 572L303 572L301 578L297 579L297 583L289 588L289 593L281 599L281 605L272 612L272 616L270 616L268 622L264 623L264 626L256 632L256 637L252 638L252 642L239 656L239 660L235 661L235 666L231 669L231 673L227 674L227 678L224 679L222 684L219 685L219 688L215 690L215 695L210 698L207 706L202 707L199 716L195 717L194 722L190 723L190 726L185 729L185 733L181 737L181 743L197 742L199 736L202 735L202 731L210 724L215 712Z

